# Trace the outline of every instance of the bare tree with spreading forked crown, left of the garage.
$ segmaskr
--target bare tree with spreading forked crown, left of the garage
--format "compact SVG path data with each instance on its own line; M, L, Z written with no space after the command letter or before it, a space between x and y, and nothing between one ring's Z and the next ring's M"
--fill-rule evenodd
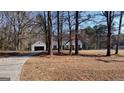
M26 30L26 28L31 26L31 22L33 18L30 18L27 12L15 11L15 12L4 12L4 15L7 21L10 23L15 37L15 46L16 50L21 49L22 43L22 34Z

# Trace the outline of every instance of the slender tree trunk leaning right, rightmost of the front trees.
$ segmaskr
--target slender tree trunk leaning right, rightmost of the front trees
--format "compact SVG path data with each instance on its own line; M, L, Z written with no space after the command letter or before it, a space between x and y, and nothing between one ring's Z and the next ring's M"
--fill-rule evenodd
M119 21L119 29L118 29L118 36L117 36L117 45L116 45L116 49L115 49L115 54L118 54L118 46L119 46L119 41L120 41L122 18L123 18L123 12L121 11L120 21Z

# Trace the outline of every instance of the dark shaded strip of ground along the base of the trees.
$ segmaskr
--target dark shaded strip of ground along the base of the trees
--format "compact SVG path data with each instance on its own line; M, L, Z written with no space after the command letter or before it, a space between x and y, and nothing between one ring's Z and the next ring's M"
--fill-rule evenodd
M47 56L47 52L27 52L27 53L20 53L20 52L3 52L0 53L0 58L5 58L5 57L27 57L27 56L35 56L35 57L45 57ZM69 53L58 53L58 52L53 52L53 55L56 56L70 56ZM75 53L73 52L71 56L75 56ZM76 56L82 56L82 57L107 57L106 55L102 54L78 54ZM111 56L115 57L124 57L124 55L116 55L116 54L111 54Z

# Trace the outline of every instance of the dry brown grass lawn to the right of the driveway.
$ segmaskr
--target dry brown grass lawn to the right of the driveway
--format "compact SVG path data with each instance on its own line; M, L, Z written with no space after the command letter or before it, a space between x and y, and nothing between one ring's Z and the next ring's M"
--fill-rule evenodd
M105 54L83 50L78 56L34 56L24 64L21 80L124 80L124 50L111 57Z

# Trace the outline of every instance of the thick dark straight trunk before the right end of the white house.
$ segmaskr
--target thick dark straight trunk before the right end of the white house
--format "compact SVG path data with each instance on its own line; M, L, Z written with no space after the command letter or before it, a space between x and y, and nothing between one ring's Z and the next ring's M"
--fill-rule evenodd
M78 16L79 16L79 12L76 11L76 18L75 18L75 21L76 21L76 24L75 24L75 55L78 55Z

